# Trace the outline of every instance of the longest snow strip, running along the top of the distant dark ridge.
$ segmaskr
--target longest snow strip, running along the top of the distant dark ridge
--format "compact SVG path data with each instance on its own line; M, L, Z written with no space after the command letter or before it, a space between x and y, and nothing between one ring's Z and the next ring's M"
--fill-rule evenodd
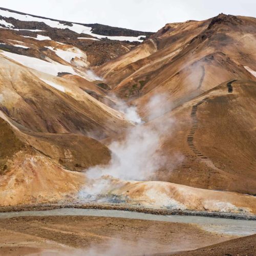
M68 26L65 24L61 24L57 21L54 20L50 20L47 18L38 18L38 17L33 17L30 15L25 15L25 14L19 14L19 13L15 13L15 12L9 12L9 11L5 11L5 10L0 10L0 15L3 17L13 17L15 19L19 19L19 20L23 20L26 22L43 22L46 25L48 25L49 27L52 28L58 28L58 29L70 29L78 34L84 33L84 34L88 34L88 35L92 35L94 37L97 38L109 38L112 40L120 40L120 41L142 41L139 38L140 37L145 37L143 35L140 36L106 36L106 35L97 35L91 32L92 28L91 27L87 27L84 25L79 25L79 24L75 24L72 23L72 26ZM11 25L12 26L12 25Z

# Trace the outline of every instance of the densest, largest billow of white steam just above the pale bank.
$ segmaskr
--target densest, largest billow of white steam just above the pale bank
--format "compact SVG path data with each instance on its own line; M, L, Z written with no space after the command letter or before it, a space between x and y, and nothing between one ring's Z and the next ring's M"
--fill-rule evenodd
M127 131L124 141L115 141L109 148L112 159L109 166L92 167L87 170L90 178L111 175L124 180L145 180L164 164L164 159L156 156L159 145L159 131L143 125Z

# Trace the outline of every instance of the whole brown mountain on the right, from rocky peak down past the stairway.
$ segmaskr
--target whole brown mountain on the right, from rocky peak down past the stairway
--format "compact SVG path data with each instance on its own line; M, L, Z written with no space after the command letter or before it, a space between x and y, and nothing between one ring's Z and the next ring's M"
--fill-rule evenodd
M95 70L149 125L175 120L161 151L182 163L152 179L255 195L255 28L255 18L225 14L167 24ZM151 120L147 103L161 94Z

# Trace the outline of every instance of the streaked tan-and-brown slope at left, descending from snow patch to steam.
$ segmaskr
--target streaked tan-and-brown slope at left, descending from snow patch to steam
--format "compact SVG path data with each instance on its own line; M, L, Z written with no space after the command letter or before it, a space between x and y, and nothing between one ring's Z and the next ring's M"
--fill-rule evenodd
M131 125L75 83L0 58L1 110L27 129L104 138Z

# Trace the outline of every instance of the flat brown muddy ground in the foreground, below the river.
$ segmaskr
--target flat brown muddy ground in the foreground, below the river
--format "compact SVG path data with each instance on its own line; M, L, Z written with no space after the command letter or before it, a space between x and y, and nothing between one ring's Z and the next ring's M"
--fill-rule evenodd
M196 224L93 216L2 219L0 232L0 255L175 253L236 238Z

